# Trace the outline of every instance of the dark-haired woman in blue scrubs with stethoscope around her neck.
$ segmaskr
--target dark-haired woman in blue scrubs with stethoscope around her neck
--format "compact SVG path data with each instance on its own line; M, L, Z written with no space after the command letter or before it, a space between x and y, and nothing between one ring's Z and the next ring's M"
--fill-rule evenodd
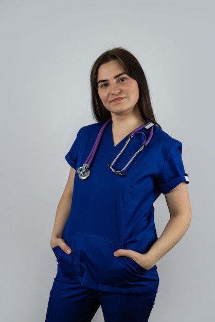
M66 155L71 168L51 236L59 264L46 322L91 321L100 305L105 322L146 322L156 262L190 224L182 145L156 122L144 71L129 51L104 52L91 87L98 122L79 131ZM170 220L157 239L153 203L161 193Z

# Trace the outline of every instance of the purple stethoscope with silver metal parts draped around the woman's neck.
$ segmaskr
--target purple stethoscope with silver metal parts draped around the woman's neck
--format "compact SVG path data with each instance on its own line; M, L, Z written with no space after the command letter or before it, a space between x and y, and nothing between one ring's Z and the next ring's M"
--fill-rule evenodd
M85 180L86 178L89 177L89 175L91 174L91 172L89 171L89 167L91 166L93 159L95 157L96 151L98 150L98 146L100 144L102 135L106 129L106 127L108 126L108 124L112 121L112 119L110 118L108 121L106 121L102 128L99 131L99 134L95 140L94 146L91 150L91 152L89 153L85 163L83 164L83 166L79 167L77 172L78 172L78 176L80 179ZM147 120L147 123L142 124L139 128L137 128L136 130L134 130L133 132L130 133L129 138L126 141L126 144L124 145L124 147L121 149L121 151L117 154L117 156L115 157L115 159L113 160L113 162L111 164L108 164L107 166L116 174L119 174L121 176L124 176L125 174L123 173L124 170L126 170L128 168L128 166L130 165L130 163L133 161L133 159L136 157L136 155L141 152L142 150L144 150L146 148L146 146L149 144L149 142L152 139L153 136L153 125L154 123L150 122L149 120ZM141 129L150 129L150 133L149 133L149 137L148 139L146 139L146 135L142 132L140 132ZM144 135L145 140L144 142L142 142L141 147L139 148L139 150L137 150L137 152L131 157L131 159L129 160L129 162L124 166L123 169L121 170L115 170L113 168L113 165L116 163L117 159L120 157L120 155L123 153L123 151L126 149L126 147L128 146L129 142L131 141L131 139L134 137L135 134L137 133L141 133Z

